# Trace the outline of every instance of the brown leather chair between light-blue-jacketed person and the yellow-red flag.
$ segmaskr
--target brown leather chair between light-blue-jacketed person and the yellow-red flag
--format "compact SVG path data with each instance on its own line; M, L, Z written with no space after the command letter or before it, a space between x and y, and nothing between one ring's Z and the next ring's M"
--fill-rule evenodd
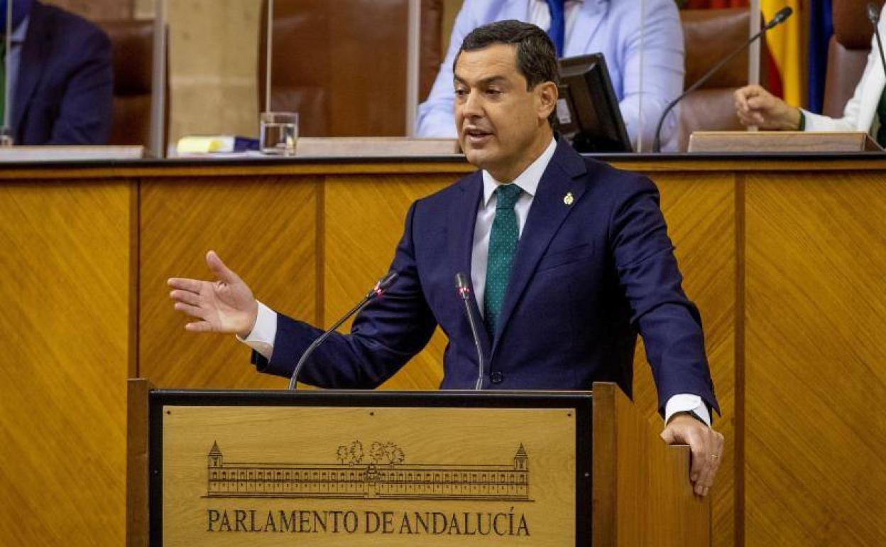
M686 79L688 88L720 59L748 40L750 11L747 8L681 10L683 43L686 48ZM766 59L765 43L761 42L760 58ZM760 63L763 66L765 63ZM766 86L766 71L760 71L760 82ZM679 146L685 151L693 131L742 130L735 116L734 90L748 83L748 50L735 56L701 88L680 103Z

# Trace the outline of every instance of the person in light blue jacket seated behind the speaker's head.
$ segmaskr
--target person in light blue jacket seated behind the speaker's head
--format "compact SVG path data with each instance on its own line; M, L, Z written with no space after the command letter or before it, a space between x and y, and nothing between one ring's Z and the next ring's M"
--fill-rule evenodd
M452 66L459 45L474 28L508 19L548 29L559 41L558 57L602 52L633 148L638 150L642 116L643 147L649 150L664 107L683 90L683 33L673 0L465 0L446 59L419 105L419 137L456 136ZM678 119L675 109L664 121L665 151L676 150Z

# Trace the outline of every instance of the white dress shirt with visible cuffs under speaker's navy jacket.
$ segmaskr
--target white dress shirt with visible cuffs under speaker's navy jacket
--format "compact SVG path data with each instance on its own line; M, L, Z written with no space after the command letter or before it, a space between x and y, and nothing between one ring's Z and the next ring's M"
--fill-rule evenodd
M541 155L525 168L513 183L522 190L517 203L514 204L514 212L517 214L517 230L523 234L526 216L532 207L532 199L539 187L542 174L548 168L548 163L554 157L556 140L551 139L551 144ZM483 200L477 212L477 223L474 224L474 244L470 254L470 281L474 285L474 295L477 298L480 313L483 313L483 295L486 287L486 261L489 253L489 231L492 230L495 218L495 188L500 184L488 171L482 172L483 176ZM276 336L276 312L259 302L259 315L255 320L253 332L245 339L237 336L238 340L245 342L261 356L271 358L274 352L274 338ZM679 394L673 395L664 405L665 421L671 419L676 412L692 411L711 425L711 414L707 406L698 395Z

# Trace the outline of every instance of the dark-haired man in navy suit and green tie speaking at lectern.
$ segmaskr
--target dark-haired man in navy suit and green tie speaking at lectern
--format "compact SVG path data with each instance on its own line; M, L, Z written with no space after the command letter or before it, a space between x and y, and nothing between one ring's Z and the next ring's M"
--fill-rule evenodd
M449 339L443 389L470 389L478 357L456 272L470 271L485 354L484 389L631 393L639 328L657 382L668 442L688 442L696 493L706 495L722 453L717 408L695 306L680 288L655 185L586 160L551 129L557 99L553 44L516 20L478 27L455 62L455 121L479 171L410 207L385 296L307 360L300 379L321 387L377 387L415 356L436 325ZM210 252L216 282L174 277L175 309L194 332L237 333L263 372L289 376L322 332L268 309Z

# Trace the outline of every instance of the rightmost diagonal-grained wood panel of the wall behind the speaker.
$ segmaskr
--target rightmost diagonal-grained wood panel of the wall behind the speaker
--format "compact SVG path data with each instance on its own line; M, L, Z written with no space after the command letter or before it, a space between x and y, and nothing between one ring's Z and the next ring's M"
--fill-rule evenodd
M747 544L886 544L886 178L746 190Z

